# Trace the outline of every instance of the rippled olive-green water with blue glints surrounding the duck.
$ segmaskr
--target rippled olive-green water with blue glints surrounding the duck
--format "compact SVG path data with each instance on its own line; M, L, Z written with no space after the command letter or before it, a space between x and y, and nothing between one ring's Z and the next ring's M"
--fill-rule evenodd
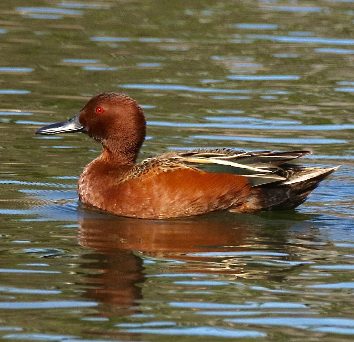
M354 3L0 2L0 336L352 341ZM100 146L35 136L103 91L166 149L310 149L296 211L166 221L78 203Z

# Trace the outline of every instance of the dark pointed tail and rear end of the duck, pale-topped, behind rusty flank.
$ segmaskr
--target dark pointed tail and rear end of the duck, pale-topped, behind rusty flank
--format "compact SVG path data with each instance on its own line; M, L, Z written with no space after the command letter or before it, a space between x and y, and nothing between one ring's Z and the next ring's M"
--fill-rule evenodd
M256 198L249 203L250 207L257 203L253 210L287 210L303 203L307 196L338 167L333 168L296 168L288 170L289 178L279 184L266 184L254 187ZM250 208L252 210L252 208Z

